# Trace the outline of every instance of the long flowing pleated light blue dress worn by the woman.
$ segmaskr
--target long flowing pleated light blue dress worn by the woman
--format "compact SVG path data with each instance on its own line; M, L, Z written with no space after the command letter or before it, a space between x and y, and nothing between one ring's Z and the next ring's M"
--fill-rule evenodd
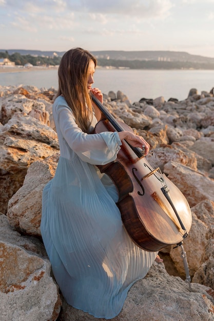
M157 252L132 242L115 204L116 188L94 166L116 158L118 133L84 133L62 96L55 99L53 116L61 155L43 191L44 245L67 303L110 319L119 314L128 290L147 274Z

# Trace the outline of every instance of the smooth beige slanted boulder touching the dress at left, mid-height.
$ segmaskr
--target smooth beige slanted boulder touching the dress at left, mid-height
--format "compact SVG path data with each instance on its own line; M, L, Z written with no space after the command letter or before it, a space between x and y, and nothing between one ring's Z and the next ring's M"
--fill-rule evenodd
M59 155L31 164L23 186L10 198L7 216L16 230L41 236L42 191L54 176Z

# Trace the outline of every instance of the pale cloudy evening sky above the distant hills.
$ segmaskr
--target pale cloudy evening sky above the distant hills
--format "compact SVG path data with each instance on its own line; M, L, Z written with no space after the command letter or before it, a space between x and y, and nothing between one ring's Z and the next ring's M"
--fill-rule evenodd
M0 49L214 57L214 0L0 0Z

